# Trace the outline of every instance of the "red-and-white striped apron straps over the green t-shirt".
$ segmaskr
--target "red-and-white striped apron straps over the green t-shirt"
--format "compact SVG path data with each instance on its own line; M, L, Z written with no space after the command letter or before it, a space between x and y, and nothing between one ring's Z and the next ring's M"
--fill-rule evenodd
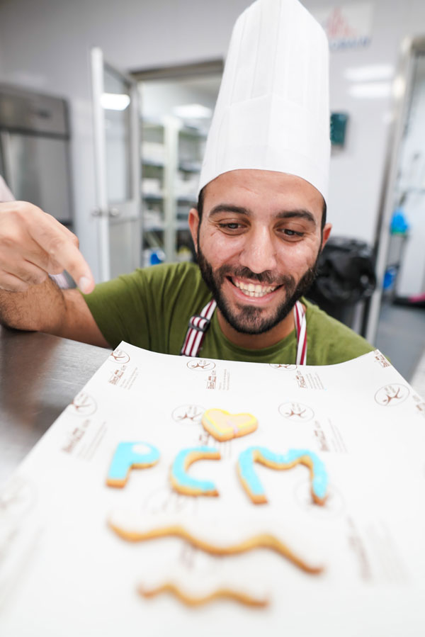
M191 317L189 327L181 348L181 356L198 356L205 338L205 332L210 327L214 310L217 307L214 299L211 299L205 308ZM305 365L307 361L307 320L305 310L300 301L294 305L295 332L297 334L297 365Z

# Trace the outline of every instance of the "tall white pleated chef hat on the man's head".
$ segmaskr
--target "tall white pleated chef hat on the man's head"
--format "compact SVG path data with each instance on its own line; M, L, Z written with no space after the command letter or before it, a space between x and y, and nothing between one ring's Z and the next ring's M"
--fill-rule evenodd
M234 25L199 191L235 169L310 181L326 200L329 52L319 23L297 0L257 0Z

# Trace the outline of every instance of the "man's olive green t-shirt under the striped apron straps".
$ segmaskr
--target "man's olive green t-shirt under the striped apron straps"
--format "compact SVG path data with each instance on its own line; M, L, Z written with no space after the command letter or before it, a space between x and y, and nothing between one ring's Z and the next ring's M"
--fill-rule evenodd
M161 354L179 355L188 320L199 314L211 293L196 264L162 264L135 270L96 286L84 296L99 329L115 347L122 340ZM307 365L342 363L372 351L352 329L329 317L305 299ZM200 356L256 363L295 363L295 329L271 347L245 349L222 333L214 313Z

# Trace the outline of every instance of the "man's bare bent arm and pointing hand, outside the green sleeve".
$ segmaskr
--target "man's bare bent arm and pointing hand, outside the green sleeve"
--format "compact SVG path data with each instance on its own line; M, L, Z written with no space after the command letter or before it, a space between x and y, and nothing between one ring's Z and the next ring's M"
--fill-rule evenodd
M75 235L26 201L0 203L0 324L108 346L77 290L48 273L66 270L85 294L94 278Z

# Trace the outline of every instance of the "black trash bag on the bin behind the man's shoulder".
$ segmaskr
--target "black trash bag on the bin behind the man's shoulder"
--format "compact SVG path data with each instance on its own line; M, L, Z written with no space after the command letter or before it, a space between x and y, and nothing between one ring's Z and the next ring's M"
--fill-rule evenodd
M368 244L332 237L319 257L318 275L307 298L349 325L346 310L369 298L375 286L375 259Z

